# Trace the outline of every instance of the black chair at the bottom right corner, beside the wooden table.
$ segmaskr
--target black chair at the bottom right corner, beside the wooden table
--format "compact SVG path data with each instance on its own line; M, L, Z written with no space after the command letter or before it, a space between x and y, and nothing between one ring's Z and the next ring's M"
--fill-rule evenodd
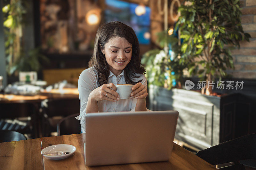
M239 161L256 159L256 133L212 146L197 152L196 155L212 165L235 162L232 166L220 169L245 169Z

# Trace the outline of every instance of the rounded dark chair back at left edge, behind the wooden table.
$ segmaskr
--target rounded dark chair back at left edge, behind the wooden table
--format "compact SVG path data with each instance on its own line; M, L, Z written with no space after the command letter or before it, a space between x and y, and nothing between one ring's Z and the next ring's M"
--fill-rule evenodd
M19 132L11 130L0 130L0 142L12 142L26 139L27 138Z

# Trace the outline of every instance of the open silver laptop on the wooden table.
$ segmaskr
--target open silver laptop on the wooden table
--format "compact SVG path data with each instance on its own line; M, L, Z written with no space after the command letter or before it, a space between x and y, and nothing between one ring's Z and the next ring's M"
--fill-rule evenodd
M178 115L178 111L87 114L85 165L169 160Z

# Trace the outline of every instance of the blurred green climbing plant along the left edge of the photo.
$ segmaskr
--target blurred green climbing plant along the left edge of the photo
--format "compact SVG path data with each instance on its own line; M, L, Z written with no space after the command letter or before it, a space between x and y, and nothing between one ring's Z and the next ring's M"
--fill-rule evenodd
M4 35L7 73L12 75L17 71L39 71L41 62L49 62L48 58L41 54L40 48L24 51L22 48L22 29L24 26L25 2L10 0L5 3Z

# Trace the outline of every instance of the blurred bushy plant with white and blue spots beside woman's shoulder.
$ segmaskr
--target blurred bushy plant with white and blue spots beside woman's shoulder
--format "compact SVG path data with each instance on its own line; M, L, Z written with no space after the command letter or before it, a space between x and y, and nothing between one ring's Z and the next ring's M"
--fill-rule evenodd
M146 69L148 85L157 85L171 89L179 84L184 63L179 61L177 32L169 35L167 30L158 33L157 42L160 48L146 52L142 64Z

